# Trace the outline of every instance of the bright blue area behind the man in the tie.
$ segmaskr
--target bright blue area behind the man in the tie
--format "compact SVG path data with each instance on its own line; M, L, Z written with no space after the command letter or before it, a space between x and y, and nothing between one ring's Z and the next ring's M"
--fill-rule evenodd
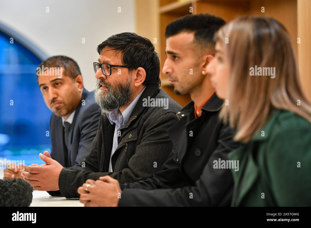
M50 148L46 131L51 111L35 74L41 60L10 38L0 31L0 157L28 155L29 165L32 156L39 158L37 154Z

